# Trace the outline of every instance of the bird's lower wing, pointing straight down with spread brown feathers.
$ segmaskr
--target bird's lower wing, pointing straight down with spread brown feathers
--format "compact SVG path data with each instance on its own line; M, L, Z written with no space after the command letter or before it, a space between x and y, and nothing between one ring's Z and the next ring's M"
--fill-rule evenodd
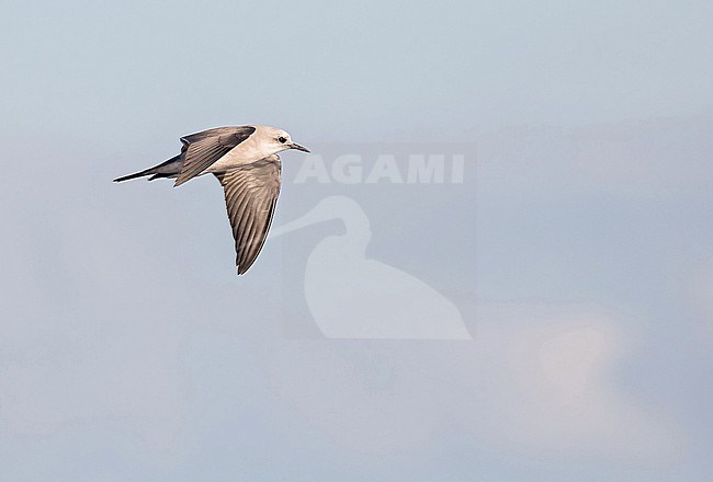
M248 271L262 249L280 195L280 158L215 173L225 191L233 226L238 274Z

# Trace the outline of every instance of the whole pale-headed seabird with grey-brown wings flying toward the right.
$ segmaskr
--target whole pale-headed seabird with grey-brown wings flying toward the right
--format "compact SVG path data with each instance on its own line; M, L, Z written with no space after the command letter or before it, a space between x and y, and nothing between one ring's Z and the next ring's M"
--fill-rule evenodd
M235 238L238 275L250 268L264 244L280 194L278 152L309 150L290 134L271 126L216 127L181 137L181 153L152 168L117 177L114 182L150 175L149 181L176 179L174 186L202 174L215 175Z

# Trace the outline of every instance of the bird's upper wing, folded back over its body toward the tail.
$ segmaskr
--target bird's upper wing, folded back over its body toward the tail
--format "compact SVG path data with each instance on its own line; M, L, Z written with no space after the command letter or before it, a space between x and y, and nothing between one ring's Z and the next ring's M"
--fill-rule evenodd
M254 133L252 126L217 127L181 137L183 167L176 186L195 177Z

